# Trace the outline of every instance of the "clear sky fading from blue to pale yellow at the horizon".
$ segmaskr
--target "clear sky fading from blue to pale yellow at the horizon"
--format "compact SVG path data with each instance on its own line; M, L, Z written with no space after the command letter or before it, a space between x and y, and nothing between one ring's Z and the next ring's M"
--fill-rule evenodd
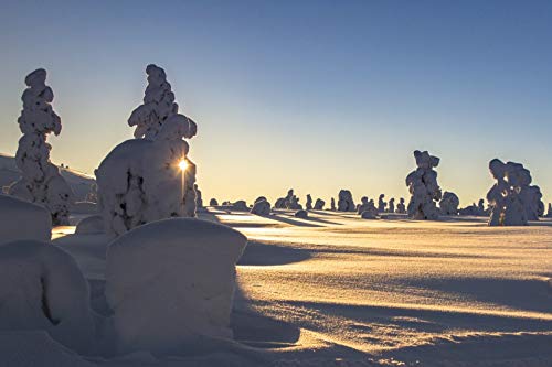
M461 205L519 161L552 199L552 1L6 1L0 152L24 76L49 71L52 159L92 173L131 137L162 66L204 198L406 196L412 151L442 159Z

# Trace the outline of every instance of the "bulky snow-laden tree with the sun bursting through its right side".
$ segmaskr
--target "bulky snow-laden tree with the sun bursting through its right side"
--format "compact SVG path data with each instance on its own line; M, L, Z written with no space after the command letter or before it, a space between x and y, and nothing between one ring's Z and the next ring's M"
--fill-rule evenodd
M128 120L136 126L137 139L115 147L96 170L100 213L108 234L121 235L162 218L195 216L197 169L182 140L195 136L195 122L178 114L164 72L148 65L146 73L144 105Z

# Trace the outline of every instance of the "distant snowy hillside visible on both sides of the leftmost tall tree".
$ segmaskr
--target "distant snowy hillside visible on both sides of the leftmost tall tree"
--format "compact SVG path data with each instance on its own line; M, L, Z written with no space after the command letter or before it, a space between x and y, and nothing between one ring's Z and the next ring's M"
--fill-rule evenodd
M71 169L61 168L62 176L67 181L75 193L76 201L84 201L92 185L96 182L93 176ZM0 153L0 187L9 186L18 181L21 173L13 156Z

